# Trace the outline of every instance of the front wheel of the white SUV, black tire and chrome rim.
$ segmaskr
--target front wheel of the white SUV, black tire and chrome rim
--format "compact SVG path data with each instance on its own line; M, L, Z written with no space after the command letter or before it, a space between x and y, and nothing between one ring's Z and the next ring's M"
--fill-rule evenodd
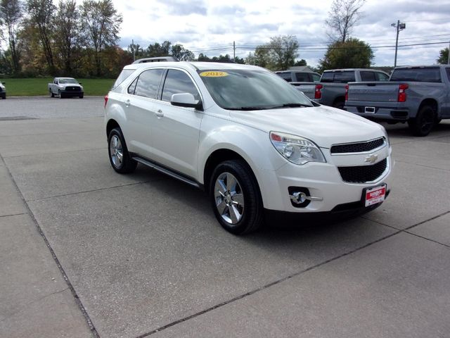
M241 160L217 165L210 181L214 215L226 231L245 234L263 222L262 198L250 167Z

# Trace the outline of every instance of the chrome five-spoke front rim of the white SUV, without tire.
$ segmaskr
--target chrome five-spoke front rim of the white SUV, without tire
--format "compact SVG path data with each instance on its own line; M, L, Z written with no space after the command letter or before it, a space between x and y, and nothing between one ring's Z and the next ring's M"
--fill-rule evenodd
M244 195L236 177L221 173L214 184L214 199L221 218L231 225L237 224L244 213Z

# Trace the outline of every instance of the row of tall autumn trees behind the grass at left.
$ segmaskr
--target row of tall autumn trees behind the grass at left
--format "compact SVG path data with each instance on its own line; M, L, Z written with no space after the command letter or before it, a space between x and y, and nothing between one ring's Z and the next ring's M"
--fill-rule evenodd
M120 70L122 15L112 0L0 0L0 73L108 76Z

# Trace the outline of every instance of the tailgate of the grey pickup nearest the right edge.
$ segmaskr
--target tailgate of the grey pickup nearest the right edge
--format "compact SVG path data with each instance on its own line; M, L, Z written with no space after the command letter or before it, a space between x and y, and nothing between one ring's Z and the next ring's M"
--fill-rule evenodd
M348 101L397 102L400 82L349 82Z

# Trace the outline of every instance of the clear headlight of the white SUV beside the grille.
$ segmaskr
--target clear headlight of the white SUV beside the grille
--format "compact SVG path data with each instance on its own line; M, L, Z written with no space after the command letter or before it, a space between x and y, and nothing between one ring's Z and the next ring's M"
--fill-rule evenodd
M303 165L308 162L326 162L319 146L309 139L283 132L270 132L270 140L278 153L292 163Z

